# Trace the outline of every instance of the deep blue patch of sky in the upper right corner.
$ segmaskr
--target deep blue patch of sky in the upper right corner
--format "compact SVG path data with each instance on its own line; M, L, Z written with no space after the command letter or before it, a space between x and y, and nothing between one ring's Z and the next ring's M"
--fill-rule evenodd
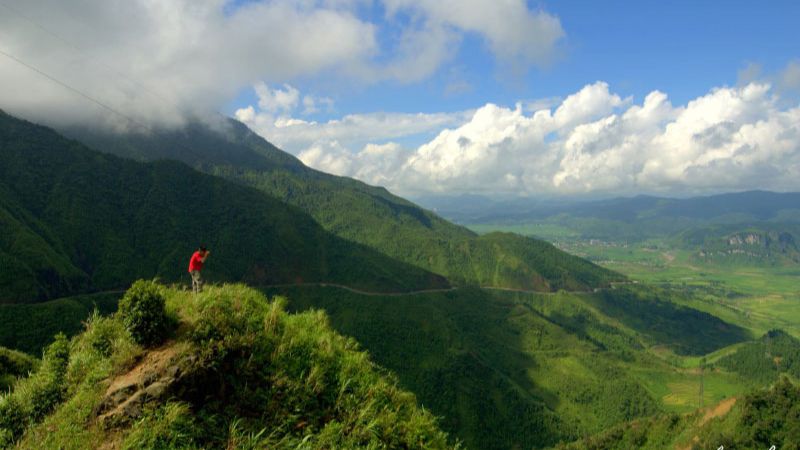
M659 89L685 103L737 82L750 63L778 71L800 54L800 3L789 1L559 1L564 61L531 84L568 92L595 79L641 97ZM551 76L552 75L552 76ZM538 83L537 83L538 82ZM563 84L562 84L563 83Z

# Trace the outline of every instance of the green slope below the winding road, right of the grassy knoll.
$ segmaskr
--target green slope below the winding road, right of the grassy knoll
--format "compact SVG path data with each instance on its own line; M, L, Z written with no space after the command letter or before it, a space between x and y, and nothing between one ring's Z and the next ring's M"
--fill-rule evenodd
M542 448L637 417L691 411L697 374L649 349L702 355L749 338L633 287L391 298L334 287L267 292L289 298L292 311L324 309L468 448ZM709 402L743 389L727 372L706 377Z

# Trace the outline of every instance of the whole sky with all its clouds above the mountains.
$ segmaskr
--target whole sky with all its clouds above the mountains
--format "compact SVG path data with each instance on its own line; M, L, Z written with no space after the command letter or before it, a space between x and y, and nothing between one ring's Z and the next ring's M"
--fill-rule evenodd
M0 7L2 50L73 88L0 58L0 108L55 126L222 113L407 196L800 191L800 2Z

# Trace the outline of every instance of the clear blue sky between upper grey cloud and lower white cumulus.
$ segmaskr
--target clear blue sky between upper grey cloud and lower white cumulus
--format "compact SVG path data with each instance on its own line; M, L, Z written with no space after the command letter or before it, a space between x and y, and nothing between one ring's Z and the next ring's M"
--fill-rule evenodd
M735 85L738 73L750 64L759 65L763 73L777 73L800 58L800 2L560 0L528 5L558 17L566 36L551 63L528 67L523 75L505 70L473 33L464 37L453 61L419 82L331 83L326 73L284 82L334 97L338 114L513 105L565 97L597 80L621 95L640 99L658 89L685 103L711 87ZM383 12L380 5L361 11L380 27L397 28L387 24ZM384 47L384 55L390 54L391 44ZM459 81L469 88L448 93L448 84ZM224 111L232 114L254 100L252 89L245 88ZM334 115L318 117L329 116Z

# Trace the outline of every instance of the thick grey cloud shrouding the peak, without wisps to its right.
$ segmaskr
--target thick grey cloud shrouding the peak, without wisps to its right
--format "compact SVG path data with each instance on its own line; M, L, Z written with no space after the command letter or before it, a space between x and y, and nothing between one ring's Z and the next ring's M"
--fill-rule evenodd
M371 58L376 26L325 3L12 0L0 7L0 47L135 120L180 123L216 111L254 81ZM0 108L27 118L120 120L8 57L0 56L0 85ZM272 107L291 95L276 93Z

